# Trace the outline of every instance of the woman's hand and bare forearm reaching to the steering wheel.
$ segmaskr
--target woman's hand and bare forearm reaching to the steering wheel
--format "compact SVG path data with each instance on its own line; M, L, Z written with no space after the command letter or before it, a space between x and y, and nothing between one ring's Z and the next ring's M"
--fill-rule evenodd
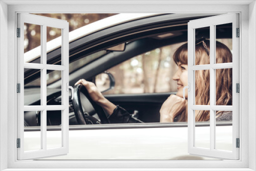
M114 109L116 109L116 105L106 99L93 82L87 81L85 79L80 79L75 83L75 86L77 84L82 84L87 89L92 100L100 105L105 112L107 112L109 115L112 115Z

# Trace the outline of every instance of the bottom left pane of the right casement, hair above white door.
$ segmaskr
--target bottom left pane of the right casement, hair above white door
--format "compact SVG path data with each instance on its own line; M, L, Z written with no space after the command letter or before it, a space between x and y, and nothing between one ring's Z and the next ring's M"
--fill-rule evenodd
M210 111L195 111L195 146L210 148Z

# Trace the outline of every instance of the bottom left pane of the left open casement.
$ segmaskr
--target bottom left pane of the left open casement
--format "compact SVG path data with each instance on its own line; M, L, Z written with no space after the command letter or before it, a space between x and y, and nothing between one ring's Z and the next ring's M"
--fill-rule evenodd
M24 151L41 149L40 111L24 112Z

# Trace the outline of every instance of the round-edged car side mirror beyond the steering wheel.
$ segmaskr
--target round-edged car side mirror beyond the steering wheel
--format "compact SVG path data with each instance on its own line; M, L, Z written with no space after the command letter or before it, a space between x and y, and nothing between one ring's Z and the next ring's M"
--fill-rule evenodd
M115 87L115 83L115 78L109 71L105 71L95 77L95 85L101 93L113 89Z

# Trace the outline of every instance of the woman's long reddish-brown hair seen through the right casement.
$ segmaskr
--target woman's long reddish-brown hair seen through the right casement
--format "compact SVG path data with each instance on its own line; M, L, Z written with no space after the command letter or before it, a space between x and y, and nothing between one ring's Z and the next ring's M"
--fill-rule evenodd
M206 65L210 63L209 49L210 41L202 39L196 43L195 63L196 65ZM187 43L180 46L173 56L178 65L179 62L187 65ZM219 41L216 41L216 63L232 62L232 53L229 48ZM210 105L210 71L195 71L195 104ZM232 69L216 70L216 105L232 105ZM223 111L218 111L218 116ZM178 121L187 121L187 108L175 114ZM196 111L196 121L208 121L209 111Z

